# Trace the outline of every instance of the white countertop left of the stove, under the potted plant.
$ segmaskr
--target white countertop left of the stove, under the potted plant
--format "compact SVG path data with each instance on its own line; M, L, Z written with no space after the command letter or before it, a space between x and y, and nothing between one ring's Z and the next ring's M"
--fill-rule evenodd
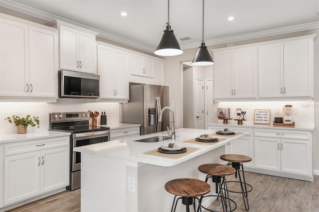
M69 132L59 132L59 131L39 131L39 132L27 132L24 134L0 134L0 144L27 141L32 139L42 139L42 138L53 138L59 136L70 135Z

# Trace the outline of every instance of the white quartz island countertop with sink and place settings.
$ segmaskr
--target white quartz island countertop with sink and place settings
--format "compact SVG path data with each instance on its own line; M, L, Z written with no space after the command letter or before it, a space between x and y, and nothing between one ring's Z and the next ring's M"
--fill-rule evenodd
M81 146L74 148L74 151L95 154L100 156L112 157L123 159L132 162L141 162L146 164L153 164L158 166L174 166L179 163L182 163L186 160L194 158L198 155L216 149L220 146L225 145L232 139L236 139L238 137L245 136L244 134L238 134L236 136L214 136L217 138L226 138L225 141L216 142L215 144L193 144L193 143L186 143L183 141L194 139L199 137L201 134L210 134L215 133L215 130L207 130L207 129L190 129L190 128L179 128L175 130L176 139L173 140L164 140L155 143L145 143L145 142L137 142L134 140L153 137L155 135L165 135L167 136L167 132L159 132L153 133L148 135L141 135L140 137L135 138L128 138L128 139L120 139L114 141L108 141L103 143L97 143L87 146ZM160 145L163 143L175 143L184 147L196 147L198 150L191 152L179 159L170 159L155 155L146 155L143 154L144 152L158 149Z

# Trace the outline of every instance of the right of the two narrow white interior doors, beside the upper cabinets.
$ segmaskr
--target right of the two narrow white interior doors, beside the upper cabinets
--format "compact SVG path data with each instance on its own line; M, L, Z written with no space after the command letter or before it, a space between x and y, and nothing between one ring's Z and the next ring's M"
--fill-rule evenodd
M210 123L214 120L214 98L213 98L213 94L214 94L214 90L213 90L213 80L212 79L208 79L205 80L205 88L206 88L206 92L205 92L205 123ZM206 127L205 127L206 128Z

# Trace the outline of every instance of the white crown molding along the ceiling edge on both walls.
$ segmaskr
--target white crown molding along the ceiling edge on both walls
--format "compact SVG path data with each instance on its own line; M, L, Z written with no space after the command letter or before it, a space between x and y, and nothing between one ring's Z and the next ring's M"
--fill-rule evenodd
M127 40L112 34L109 34L107 32L97 30L88 26L85 26L83 24L79 24L74 21L70 21L67 19L64 19L62 17L43 12L38 9L34 9L32 7L25 6L23 4L11 1L11 0L1 0L0 1L0 6L6 7L8 9L12 9L18 12L22 12L27 15L31 15L37 18L41 18L46 21L53 21L53 20L61 20L70 24L74 24L77 26L80 26L82 28L89 29L91 31L95 31L98 33L97 36L118 42L127 46L131 46L137 49L141 49L147 52L154 52L154 48L133 42L131 40ZM297 31L304 31L304 30L309 30L309 29L316 29L319 28L319 22L313 22L313 23L306 23L306 24L300 24L300 25L295 25L295 26L288 26L288 27L283 27L283 28L278 28L278 29L271 29L271 30L266 30L266 31L261 31L261 32L256 32L256 33L250 33L250 34L243 34L243 35L238 35L238 36L232 36L232 37L225 37L225 38L220 38L220 39L213 39L213 40L207 40L205 41L206 46L210 45L215 45L215 44L221 44L221 43L230 43L230 42L236 42L236 41L241 41L241 40L248 40L248 39L254 39L254 38L260 38L260 37L267 37L267 36L272 36L272 35L279 35L279 34L285 34L285 33L290 33L290 32L297 32ZM180 45L182 49L190 49L190 48L197 48L199 47L200 42L196 43L189 43L189 44L183 44Z

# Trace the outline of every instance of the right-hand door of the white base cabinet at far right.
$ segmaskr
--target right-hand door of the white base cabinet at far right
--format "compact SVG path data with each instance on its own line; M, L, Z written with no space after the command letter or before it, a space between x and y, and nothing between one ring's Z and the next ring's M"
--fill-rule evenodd
M310 141L281 139L281 171L309 176L311 160Z

